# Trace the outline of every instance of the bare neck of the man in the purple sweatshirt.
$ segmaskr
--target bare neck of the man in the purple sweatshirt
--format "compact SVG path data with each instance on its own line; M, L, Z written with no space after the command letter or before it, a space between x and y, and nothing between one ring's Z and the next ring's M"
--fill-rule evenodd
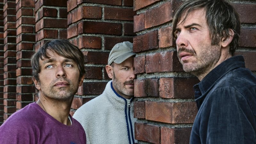
M71 102L66 101L57 101L52 100L50 98L41 97L40 94L39 99L36 102L46 113L55 118L62 124L71 125L68 120L69 111L71 108Z

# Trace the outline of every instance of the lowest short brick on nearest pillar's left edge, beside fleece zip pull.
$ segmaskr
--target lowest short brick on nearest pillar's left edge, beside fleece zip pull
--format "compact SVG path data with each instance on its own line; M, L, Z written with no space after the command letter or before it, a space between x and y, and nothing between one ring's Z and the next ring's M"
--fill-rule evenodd
M134 102L134 117L145 119L145 101Z

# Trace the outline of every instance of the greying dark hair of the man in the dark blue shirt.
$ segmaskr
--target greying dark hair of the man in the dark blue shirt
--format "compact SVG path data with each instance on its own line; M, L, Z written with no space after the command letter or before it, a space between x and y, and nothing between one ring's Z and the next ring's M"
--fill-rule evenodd
M181 4L172 22L174 39L177 39L175 29L182 16L186 19L189 12L200 8L206 12L212 45L218 44L223 36L231 36L230 29L234 31L233 40L229 44L229 52L233 55L238 47L241 24L236 10L224 0L188 0Z

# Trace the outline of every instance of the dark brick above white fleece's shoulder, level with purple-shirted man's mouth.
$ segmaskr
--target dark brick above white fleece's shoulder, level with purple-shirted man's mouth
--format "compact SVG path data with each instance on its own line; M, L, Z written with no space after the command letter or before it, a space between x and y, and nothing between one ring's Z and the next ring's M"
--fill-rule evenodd
M105 87L107 82L84 82L83 89L81 89L78 94L82 95L100 95Z

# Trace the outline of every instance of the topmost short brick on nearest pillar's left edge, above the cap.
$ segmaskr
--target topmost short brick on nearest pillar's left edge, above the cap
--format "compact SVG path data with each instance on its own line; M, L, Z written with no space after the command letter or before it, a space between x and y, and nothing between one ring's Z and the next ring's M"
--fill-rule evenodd
M145 29L145 14L144 13L135 15L133 17L133 19L134 19L134 27L133 27L134 32L139 32L139 31L142 31Z

